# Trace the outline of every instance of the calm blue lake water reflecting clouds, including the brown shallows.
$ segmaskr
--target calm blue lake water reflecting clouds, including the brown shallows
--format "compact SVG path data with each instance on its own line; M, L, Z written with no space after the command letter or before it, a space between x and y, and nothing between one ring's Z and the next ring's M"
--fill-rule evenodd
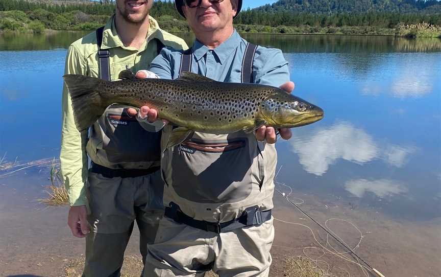
M58 157L66 47L84 34L0 36L4 163ZM178 35L192 40L191 35ZM322 121L292 129L291 140L277 143L278 190L287 194L292 189L290 199L323 224L332 217L355 223L363 237L359 253L386 275L441 276L441 40L245 37L282 49L296 84L293 94L325 110ZM54 237L76 249L72 253L82 252L81 246L72 246L79 240L69 236L65 208L42 210L34 201L44 196L47 176L47 168L30 168L0 177L2 276L23 274L11 257L32 256L41 248L50 251ZM275 199L276 218L305 224L305 216L281 195L276 193ZM350 234L352 225L333 222L334 230L346 232L346 240L356 244L360 235ZM290 240L292 232L303 232L300 237L306 241L308 230L275 224L273 251L282 244L294 249L314 243ZM34 246L26 248L29 244ZM136 245L132 248L136 251ZM38 266L28 270L44 275ZM347 270L363 275L356 267Z

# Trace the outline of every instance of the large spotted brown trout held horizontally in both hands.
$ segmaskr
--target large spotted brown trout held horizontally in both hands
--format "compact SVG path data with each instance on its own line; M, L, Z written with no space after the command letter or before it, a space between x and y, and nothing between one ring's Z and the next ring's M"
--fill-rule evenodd
M252 132L262 125L299 127L323 118L323 110L284 90L267 85L217 82L185 72L176 80L105 81L64 75L77 129L91 126L113 103L158 110L158 118L179 126L168 146L183 142L194 131L227 134Z

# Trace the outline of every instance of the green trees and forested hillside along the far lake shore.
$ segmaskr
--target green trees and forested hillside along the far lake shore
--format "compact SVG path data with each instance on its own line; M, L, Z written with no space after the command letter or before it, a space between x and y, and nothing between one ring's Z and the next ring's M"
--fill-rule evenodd
M234 24L239 32L248 33L438 37L440 7L435 0L280 0L242 11ZM111 0L0 0L0 32L93 30L114 10ZM166 31L190 31L174 2L156 1L151 15Z

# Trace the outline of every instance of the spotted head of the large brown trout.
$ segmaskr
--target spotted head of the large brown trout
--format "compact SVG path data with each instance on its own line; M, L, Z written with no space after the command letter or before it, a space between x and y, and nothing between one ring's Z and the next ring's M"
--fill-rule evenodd
M260 114L268 126L292 128L321 120L324 112L320 107L278 89L261 103Z

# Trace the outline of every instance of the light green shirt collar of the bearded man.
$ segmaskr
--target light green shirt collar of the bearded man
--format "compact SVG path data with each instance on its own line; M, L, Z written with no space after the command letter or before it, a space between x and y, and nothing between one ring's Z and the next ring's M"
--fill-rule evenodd
M158 22L152 16L149 16L149 21L150 21L149 31L139 51L145 50L147 46L147 42L150 41L151 39L160 37L161 29L159 28ZM124 46L124 43L122 43L121 39L118 36L118 33L116 32L115 15L113 15L112 17L109 18L109 20L107 20L106 26L104 27L103 43L101 45L101 49L109 49L115 47L121 47L129 50L137 50L133 47Z

